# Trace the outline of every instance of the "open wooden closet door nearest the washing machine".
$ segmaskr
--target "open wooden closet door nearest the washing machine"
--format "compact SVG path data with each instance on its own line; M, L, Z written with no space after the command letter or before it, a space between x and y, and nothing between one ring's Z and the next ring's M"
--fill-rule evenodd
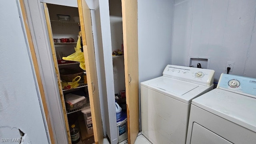
M134 144L139 132L137 0L122 0L122 20L124 36L124 69L126 85L128 143Z

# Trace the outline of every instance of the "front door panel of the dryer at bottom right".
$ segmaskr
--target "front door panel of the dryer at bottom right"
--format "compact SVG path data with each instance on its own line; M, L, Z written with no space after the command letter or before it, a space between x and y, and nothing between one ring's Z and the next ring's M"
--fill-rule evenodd
M232 144L221 136L211 132L203 126L193 123L190 144Z

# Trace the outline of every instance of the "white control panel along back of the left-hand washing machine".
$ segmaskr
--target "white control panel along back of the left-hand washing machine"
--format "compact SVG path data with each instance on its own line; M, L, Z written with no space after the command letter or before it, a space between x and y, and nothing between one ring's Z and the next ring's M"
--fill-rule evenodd
M214 80L214 70L203 68L192 68L187 66L167 65L163 76L175 78L186 82L212 86Z

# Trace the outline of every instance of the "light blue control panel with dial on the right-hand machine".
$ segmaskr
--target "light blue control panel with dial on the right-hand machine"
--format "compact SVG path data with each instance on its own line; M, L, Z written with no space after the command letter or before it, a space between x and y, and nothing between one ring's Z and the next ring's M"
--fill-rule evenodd
M256 98L256 78L222 73L217 88Z

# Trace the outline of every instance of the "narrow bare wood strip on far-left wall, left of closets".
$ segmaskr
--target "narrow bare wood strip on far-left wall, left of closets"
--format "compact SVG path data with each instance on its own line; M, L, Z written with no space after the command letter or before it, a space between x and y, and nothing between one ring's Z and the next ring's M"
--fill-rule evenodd
M47 102L46 102L46 96L44 93L44 87L42 84L42 79L40 76L40 70L39 70L39 66L38 66L38 62L37 62L37 58L36 58L36 51L34 48L34 44L32 42L32 36L31 36L31 32L30 32L30 28L28 26L28 18L27 18L27 14L26 14L26 8L25 8L25 4L23 0L19 0L20 1L20 7L21 7L21 11L22 11L22 16L23 16L23 22L24 22L24 26L25 26L25 30L26 30L26 34L27 34L27 40L28 40L28 45L29 45L29 49L30 49L30 53L31 53L31 57L32 57L32 62L33 62L33 66L34 66L34 70L35 70L35 74L36 74L36 80L38 83L38 88L39 88L39 92L40 92L40 96L41 96L41 100L42 100L42 105L43 105L43 110L44 110L44 114L45 114L45 118L46 118L46 123L47 123L47 127L48 127L48 133L50 136L50 142L52 144L55 144L55 140L54 140L54 134L52 131L52 124L51 124L51 120L50 120L50 115L48 112L48 106L47 106Z

